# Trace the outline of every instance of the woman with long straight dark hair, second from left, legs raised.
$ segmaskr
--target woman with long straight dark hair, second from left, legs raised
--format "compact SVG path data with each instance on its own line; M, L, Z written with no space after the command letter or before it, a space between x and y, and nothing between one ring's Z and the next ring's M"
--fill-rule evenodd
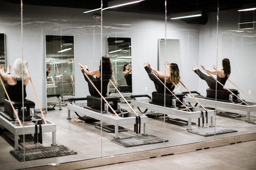
M101 70L101 62L99 64L99 70L93 70L89 71L87 68L87 65L79 65L79 68L83 72L83 74L87 74L87 76L92 80L93 84L96 86L96 88L101 91L101 82L102 82L102 95L106 96L107 89L108 89L108 82L111 79L112 76L112 67L111 67L111 61L109 57L103 56L102 57L102 70ZM93 76L96 76L93 77ZM102 75L102 77L101 77ZM88 82L89 92L92 96L100 96L98 92L95 90L93 85L89 82L87 77L84 75L85 81Z

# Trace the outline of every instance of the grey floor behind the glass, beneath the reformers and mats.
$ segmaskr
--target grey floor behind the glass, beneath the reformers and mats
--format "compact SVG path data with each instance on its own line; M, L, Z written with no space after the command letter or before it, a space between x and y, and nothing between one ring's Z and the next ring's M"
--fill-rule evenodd
M128 109L126 104L122 104L122 108ZM128 109L129 110L129 109ZM139 112L138 112L139 113ZM84 113L85 114L85 113ZM84 115L81 115L84 116ZM57 144L63 144L66 147L76 151L77 155L61 156L49 159L41 159L34 161L26 161L25 167L43 166L48 164L59 164L70 161L79 161L85 159L93 159L105 156L113 156L124 153L134 153L144 150L152 150L163 147L177 146L181 144L189 144L195 142L203 142L207 140L213 140L214 136L204 137L193 133L189 133L186 130L186 126L177 126L169 123L163 123L159 120L148 119L148 134L155 135L169 142L160 144L150 144L137 147L122 147L118 144L111 142L113 139L113 133L101 132L95 128L95 125L86 123L77 123L74 120L77 116L71 113L71 120L67 120L67 107L63 107L62 111L50 111L45 114L47 120L57 125ZM256 119L256 113L251 114L252 119ZM176 118L175 116L172 118ZM244 118L245 120L245 118ZM230 119L225 117L216 116L216 125L227 127L233 130L238 130L236 133L227 133L216 136L216 139L226 138L230 136L239 136L244 134L256 133L256 125L249 124L242 120ZM197 123L196 119L193 122ZM129 131L119 133L119 137L125 138L134 136L133 125L125 126ZM198 128L197 125L193 125L192 128ZM102 142L101 142L102 139ZM49 146L52 140L51 133L45 133L43 135L44 146ZM22 144L21 144L22 145ZM25 147L34 147L33 142L26 142ZM24 167L23 162L17 161L9 151L13 150L13 144L8 142L2 135L0 136L0 166L3 170L19 169Z

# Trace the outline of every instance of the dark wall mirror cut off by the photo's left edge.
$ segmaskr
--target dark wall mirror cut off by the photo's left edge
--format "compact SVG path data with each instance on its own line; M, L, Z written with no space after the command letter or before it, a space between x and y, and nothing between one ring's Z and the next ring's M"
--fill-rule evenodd
M5 34L0 34L0 65L4 68L6 65L6 47L5 47ZM3 87L0 86L0 105L3 105L3 100L5 99Z

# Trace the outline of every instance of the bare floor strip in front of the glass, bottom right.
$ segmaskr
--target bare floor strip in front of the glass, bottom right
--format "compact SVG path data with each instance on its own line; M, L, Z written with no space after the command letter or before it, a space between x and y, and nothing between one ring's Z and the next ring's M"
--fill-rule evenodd
M256 141L86 170L256 170Z

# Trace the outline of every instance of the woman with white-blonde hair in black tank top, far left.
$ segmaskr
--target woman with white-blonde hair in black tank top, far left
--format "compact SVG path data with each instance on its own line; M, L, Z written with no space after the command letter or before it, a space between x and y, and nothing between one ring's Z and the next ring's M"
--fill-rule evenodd
M29 72L26 67L26 61L22 59L16 59L12 68L12 74L10 74L10 65L8 65L7 72L4 72L3 65L0 65L0 75L6 81L6 91L12 101L22 100L22 82L23 82L23 98L26 98L26 85L29 84ZM6 95L5 95L6 96ZM7 98L7 96L6 96Z

